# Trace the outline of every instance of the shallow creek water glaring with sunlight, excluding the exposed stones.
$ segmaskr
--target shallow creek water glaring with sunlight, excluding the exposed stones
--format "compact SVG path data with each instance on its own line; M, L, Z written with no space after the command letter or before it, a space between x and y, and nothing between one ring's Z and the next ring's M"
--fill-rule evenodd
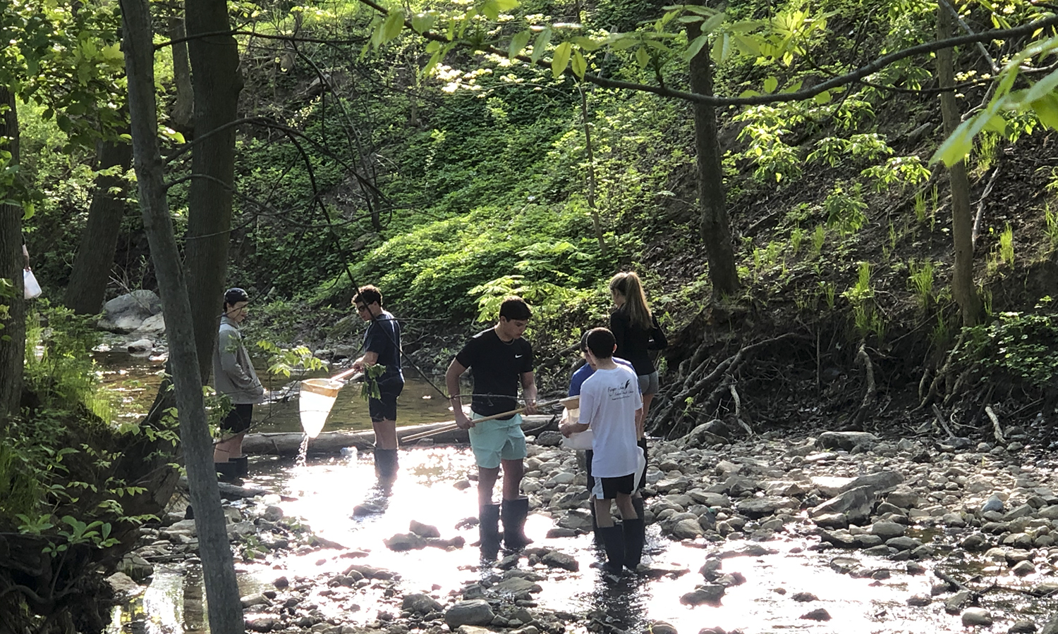
M147 361L108 363L104 379L116 390L129 411L145 408L153 395L154 373L160 366ZM412 383L412 381L409 381ZM414 385L414 384L413 384ZM401 416L418 422L446 419L449 412L440 407L439 398L422 398L432 389L426 385L406 389L401 396ZM345 392L352 390L343 390ZM353 394L340 397L331 418L338 418L328 429L355 429L357 421L366 421L366 406ZM266 412L262 428L295 431L297 405L273 403ZM417 407L418 406L418 407ZM413 415L409 410L416 410ZM256 418L256 416L255 416ZM402 421L402 423L405 421ZM411 423L411 421L406 421ZM466 447L413 447L400 452L400 474L390 487L380 488L370 454L352 451L338 456L310 456L307 461L277 458L254 458L250 463L248 486L272 492L269 503L279 504L285 514L300 518L321 537L344 548L316 549L310 553L269 554L263 559L245 561L236 556L236 571L242 595L272 590L280 576L293 581L315 582L311 596L327 616L342 622L365 624L376 621L381 613L400 614L400 594L425 592L445 598L458 595L460 589L486 576L476 547L443 551L427 547L421 551L395 553L383 540L406 533L412 520L437 526L441 537L457 535L467 543L476 540L476 528L457 528L461 521L476 515L476 490L461 488L475 470L473 456ZM659 472L654 472L660 477ZM279 496L284 501L279 502ZM381 512L353 518L353 507L370 503ZM253 502L248 502L253 503ZM859 552L809 549L818 539L795 532L780 533L766 542L728 540L719 543L695 540L675 542L662 538L658 527L649 526L644 561L653 568L667 571L657 578L632 577L614 582L604 579L590 564L598 560L589 536L577 538L546 537L552 527L549 517L541 512L529 516L526 534L534 546L560 549L572 555L580 563L579 572L540 567L545 578L542 592L533 595L544 609L576 615L605 615L610 624L627 632L647 632L654 620L664 620L680 633L695 634L703 628L718 627L727 631L738 629L745 634L758 632L871 632L926 634L964 631L959 616L948 615L934 602L928 608L910 608L908 597L930 595L932 575L909 575L905 565L882 558L872 558ZM751 543L769 551L752 556L737 556ZM366 553L364 559L350 559L352 552ZM723 572L741 573L745 582L731 586L719 605L690 608L680 597L703 582L698 568L707 555L725 553ZM854 557L864 567L883 571L875 578L852 578L828 565L837 557ZM363 562L389 570L399 576L400 593L394 597L372 585L363 589L328 588L327 580L342 573L350 563ZM927 568L931 562L924 562ZM526 565L523 560L521 566ZM975 565L967 561L966 565ZM682 573L682 574L680 574ZM799 602L797 593L811 593L818 600ZM995 607L1017 614L1037 612L1045 604L1030 601L1017 594L1006 595ZM802 616L823 608L829 621L815 621ZM997 627L1000 627L998 621ZM587 632L587 621L570 624L568 632ZM201 570L197 563L157 563L152 581L145 592L130 602L114 609L108 634L205 634L204 592Z

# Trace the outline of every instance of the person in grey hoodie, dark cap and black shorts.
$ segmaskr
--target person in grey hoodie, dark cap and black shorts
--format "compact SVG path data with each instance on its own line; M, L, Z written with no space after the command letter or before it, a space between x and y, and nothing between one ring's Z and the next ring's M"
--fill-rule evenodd
M242 344L239 324L247 318L250 296L242 288L224 292L224 314L220 318L217 346L213 350L213 380L218 394L232 399L232 410L220 423L221 440L214 446L214 468L221 476L247 474L242 439L250 429L254 405L264 400L264 387L257 378L250 353Z

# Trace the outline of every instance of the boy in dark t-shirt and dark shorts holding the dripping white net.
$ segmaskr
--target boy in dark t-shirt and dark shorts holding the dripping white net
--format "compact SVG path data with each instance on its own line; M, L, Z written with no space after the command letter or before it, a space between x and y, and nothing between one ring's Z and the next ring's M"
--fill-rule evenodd
M367 411L375 428L375 471L390 478L397 473L397 397L404 389L400 368L400 322L382 310L382 292L363 286L352 298L357 314L368 322L364 333L364 356L353 361L354 370L376 363L385 366L378 377L379 397L367 399Z

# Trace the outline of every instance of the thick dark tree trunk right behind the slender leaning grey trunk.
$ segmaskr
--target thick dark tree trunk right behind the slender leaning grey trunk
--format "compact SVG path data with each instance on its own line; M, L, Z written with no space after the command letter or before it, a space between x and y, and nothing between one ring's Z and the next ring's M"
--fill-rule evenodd
M187 35L229 31L224 0L186 0ZM230 35L195 37L187 43L195 90L195 141L187 193L184 257L187 290L202 384L213 370L213 347L220 323L227 274L235 180L235 120L242 78L239 50ZM166 321L168 324L168 321Z

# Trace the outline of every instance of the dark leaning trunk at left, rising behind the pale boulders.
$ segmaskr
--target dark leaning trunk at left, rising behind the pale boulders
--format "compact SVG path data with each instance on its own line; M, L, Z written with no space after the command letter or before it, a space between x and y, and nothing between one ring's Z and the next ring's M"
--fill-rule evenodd
M96 169L121 166L122 172L125 172L132 162L132 146L124 142L99 142L96 157ZM124 187L123 174L95 179L88 224L80 237L62 302L78 315L94 315L103 305L114 249L117 248L117 232L125 216ZM114 195L111 189L118 189L122 193Z

